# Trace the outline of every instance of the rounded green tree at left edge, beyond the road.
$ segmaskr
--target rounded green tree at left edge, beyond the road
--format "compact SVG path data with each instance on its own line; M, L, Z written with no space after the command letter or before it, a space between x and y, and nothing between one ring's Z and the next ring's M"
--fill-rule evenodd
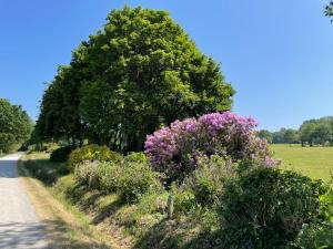
M31 132L32 121L22 107L0 98L0 154L28 141Z

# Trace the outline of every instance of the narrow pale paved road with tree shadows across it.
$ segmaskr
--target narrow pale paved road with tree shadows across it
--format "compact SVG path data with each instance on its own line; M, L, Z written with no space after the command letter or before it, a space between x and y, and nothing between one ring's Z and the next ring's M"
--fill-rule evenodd
M0 158L0 248L46 249L43 227L18 179L20 156Z

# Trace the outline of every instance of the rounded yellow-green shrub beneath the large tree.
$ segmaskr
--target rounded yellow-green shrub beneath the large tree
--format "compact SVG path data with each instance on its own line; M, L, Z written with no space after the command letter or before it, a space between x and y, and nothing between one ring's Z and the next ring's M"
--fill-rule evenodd
M74 149L68 162L68 168L70 172L73 172L77 165L82 164L83 162L121 162L122 156L115 152L111 152L107 146L99 145L88 145L81 148Z

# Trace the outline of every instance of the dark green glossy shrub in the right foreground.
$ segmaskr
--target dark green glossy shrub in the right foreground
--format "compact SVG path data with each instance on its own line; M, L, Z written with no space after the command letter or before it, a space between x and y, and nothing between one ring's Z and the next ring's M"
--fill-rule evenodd
M225 248L285 248L320 215L321 181L258 168L224 185L221 241Z

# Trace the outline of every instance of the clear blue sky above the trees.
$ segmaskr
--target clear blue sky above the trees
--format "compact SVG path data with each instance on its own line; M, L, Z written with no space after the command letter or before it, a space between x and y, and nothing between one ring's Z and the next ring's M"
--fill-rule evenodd
M222 63L236 90L233 110L260 127L333 115L333 24L324 0L1 0L0 97L36 118L43 82L125 3L168 10Z

